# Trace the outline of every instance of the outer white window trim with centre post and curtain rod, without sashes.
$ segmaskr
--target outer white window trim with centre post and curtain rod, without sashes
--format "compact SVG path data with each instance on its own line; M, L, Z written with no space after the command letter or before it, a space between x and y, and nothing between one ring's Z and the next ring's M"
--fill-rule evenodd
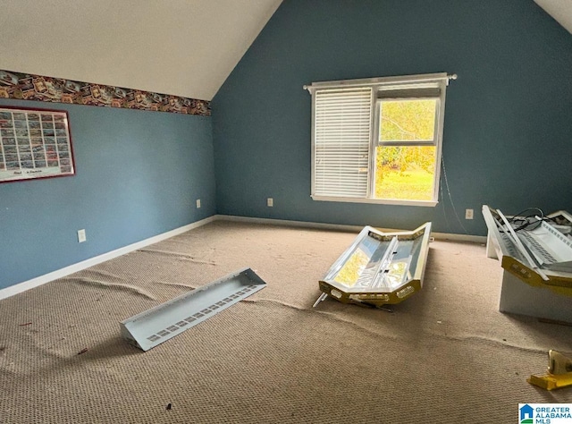
M446 72L406 75L395 77L381 77L361 80L344 80L344 81L319 81L314 82L310 86L304 86L310 94L312 94L312 182L311 182L311 198L318 201L335 201L335 202L351 202L351 203L373 203L384 205L401 205L401 206L419 206L434 207L439 201L439 182L441 178L441 158L442 158L442 133L445 118L445 95L446 87L450 80L457 79L457 75L448 75ZM379 125L378 114L380 102L377 98L377 92L381 87L383 89L391 88L391 86L400 86L407 84L437 83L440 89L439 101L435 115L435 174L433 179L433 199L432 200L412 200L412 199L374 199L372 197L375 172L375 155L374 148L378 146L378 140L374 140L378 135L378 130L374 130L375 125ZM369 148L369 173L367 182L367 197L342 197L342 196L324 196L315 195L315 91L319 89L346 89L346 88L372 88L372 106L371 106L371 130L370 130L370 148ZM437 98L436 96L434 98ZM433 143L431 143L433 145Z

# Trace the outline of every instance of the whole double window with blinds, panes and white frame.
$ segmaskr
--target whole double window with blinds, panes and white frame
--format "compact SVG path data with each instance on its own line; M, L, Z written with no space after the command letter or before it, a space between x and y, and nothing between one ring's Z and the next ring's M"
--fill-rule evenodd
M439 73L307 87L312 199L436 205L449 78Z

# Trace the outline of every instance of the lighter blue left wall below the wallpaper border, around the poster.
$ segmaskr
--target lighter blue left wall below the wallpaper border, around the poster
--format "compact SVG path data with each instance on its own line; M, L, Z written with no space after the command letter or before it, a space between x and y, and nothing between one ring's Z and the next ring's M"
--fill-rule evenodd
M6 105L67 110L76 174L0 184L0 289L216 213L212 118Z

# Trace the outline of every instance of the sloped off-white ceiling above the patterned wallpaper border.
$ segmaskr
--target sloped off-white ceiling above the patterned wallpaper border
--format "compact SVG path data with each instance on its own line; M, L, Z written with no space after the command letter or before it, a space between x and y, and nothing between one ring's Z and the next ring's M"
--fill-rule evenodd
M2 0L0 69L211 100L282 0Z

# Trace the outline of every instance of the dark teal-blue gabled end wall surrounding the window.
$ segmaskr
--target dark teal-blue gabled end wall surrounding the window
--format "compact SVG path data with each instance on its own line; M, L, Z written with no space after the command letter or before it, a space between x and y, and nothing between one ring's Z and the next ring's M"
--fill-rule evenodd
M302 86L427 72L458 73L438 206L310 199ZM572 211L572 35L532 0L284 0L212 108L219 214L484 235L483 204Z

